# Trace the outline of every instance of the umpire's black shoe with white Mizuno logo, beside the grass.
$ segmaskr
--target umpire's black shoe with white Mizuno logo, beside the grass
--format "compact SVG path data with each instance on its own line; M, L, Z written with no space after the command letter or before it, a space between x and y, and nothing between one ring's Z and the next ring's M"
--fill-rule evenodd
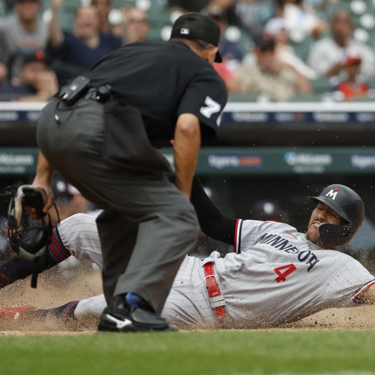
M148 331L177 331L167 321L153 312L133 308L124 299L114 297L100 318L98 332L148 332Z

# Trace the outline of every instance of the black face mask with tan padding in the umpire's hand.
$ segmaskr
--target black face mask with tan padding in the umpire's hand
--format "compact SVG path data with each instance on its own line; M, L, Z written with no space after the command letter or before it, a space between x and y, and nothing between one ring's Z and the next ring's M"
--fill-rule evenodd
M3 195L10 196L6 222L8 242L15 254L34 263L31 287L35 288L37 274L44 269L42 265L47 261L48 246L51 243L51 220L48 215L46 221L43 213L46 193L42 186L20 184L4 190ZM37 218L42 221L41 225L20 229L23 216L27 213L26 207L35 208Z

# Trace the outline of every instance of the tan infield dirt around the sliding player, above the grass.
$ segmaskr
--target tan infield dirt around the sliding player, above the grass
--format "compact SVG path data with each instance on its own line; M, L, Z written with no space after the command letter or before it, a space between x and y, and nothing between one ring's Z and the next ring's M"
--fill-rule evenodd
M0 306L32 305L36 308L52 308L69 301L101 294L100 271L92 271L83 264L75 272L67 274L52 269L39 275L36 289L30 287L30 278L15 282L0 290ZM63 276L65 275L65 276ZM67 276L68 275L68 276ZM17 324L15 324L17 323ZM301 321L286 324L282 329L373 329L375 328L375 306L347 309L328 309ZM24 335L25 333L94 332L92 326L69 326L54 320L32 325L25 322L0 321L0 335Z

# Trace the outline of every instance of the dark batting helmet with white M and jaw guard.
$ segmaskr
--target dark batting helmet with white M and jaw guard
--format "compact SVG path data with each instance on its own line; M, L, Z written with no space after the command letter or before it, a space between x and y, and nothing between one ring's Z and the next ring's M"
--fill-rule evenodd
M321 223L318 226L319 236L324 242L344 245L362 225L365 205L361 197L350 187L340 184L329 185L318 196L308 198L317 204L326 204L345 220L342 225Z

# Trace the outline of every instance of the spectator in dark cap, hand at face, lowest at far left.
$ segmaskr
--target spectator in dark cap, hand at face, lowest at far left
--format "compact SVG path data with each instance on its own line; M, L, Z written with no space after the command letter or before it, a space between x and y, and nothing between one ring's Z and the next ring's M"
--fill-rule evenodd
M58 89L57 79L48 71L48 61L40 50L20 56L22 63L19 77L13 77L0 85L3 101L46 101Z

